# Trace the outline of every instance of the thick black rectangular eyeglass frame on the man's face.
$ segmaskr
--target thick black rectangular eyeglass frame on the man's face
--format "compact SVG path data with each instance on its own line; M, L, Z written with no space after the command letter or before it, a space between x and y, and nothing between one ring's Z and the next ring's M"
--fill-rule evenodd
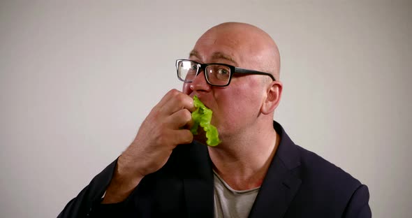
M200 72L202 72L201 70L203 70L203 72L205 72L206 67L209 66L209 65L218 64L218 65L223 65L223 66L227 66L228 68L230 68L229 80L228 80L228 83L226 85L214 85L214 84L210 83L209 80L207 80L206 73L204 73L205 74L205 80L206 80L207 84L212 85L212 86L216 86L216 87L226 87L226 86L228 86L230 84L230 81L232 80L233 74L235 74L235 73L269 75L270 78L272 79L272 81L276 81L276 79L274 78L272 73L265 73L265 72L262 72L262 71L249 70L249 69L246 69L246 68L240 68L240 67L237 67L237 66L232 66L230 64L221 64L221 63L200 64L199 62L192 61L192 60L189 60L189 59L177 59L176 60L177 78L182 82L193 82L193 81L183 80L182 78L179 77L179 63L182 62L182 61L191 61L195 64L198 64L198 71L196 72L195 78L199 75Z

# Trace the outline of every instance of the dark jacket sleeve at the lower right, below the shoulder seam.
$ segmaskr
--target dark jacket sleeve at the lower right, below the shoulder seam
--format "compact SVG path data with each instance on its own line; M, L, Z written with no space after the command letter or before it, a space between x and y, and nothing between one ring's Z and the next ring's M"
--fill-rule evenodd
M353 193L351 200L346 206L344 212L345 218L369 218L371 215L371 208L369 208L369 190L365 184L360 185Z

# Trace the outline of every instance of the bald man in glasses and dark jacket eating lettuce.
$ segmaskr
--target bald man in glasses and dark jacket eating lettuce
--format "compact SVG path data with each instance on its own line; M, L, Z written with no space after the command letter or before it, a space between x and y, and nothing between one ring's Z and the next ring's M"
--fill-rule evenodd
M257 27L206 31L177 61L183 91L165 94L59 217L371 217L365 185L273 121L279 66L277 45ZM216 147L189 131L194 95L213 111Z

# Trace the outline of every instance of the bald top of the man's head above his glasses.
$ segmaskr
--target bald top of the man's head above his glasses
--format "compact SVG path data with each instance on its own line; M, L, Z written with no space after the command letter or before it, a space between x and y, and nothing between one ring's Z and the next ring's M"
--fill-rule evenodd
M219 51L210 51L209 57L220 56L243 68L272 73L279 80L279 50L269 34L258 27L240 22L216 25L200 36L191 56L199 56L196 48L208 45L211 48L211 45L219 45L221 48Z

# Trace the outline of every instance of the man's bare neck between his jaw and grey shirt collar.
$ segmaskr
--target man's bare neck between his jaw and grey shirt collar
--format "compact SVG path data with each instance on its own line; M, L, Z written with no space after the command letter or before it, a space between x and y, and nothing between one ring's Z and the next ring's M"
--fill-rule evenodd
M272 124L266 132L254 131L253 136L225 141L230 143L209 147L216 173L236 190L260 187L279 145Z

